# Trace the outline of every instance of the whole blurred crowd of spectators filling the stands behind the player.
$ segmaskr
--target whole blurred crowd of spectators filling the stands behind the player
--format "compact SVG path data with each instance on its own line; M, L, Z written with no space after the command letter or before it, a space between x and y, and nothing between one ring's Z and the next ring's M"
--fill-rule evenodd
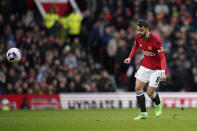
M134 91L143 55L138 52L131 65L123 61L138 19L149 21L165 49L168 79L158 90L197 91L197 1L97 0L94 14L83 2L82 16L71 10L47 24L55 10L36 19L39 12L10 11L1 1L0 93ZM23 53L18 64L6 61L11 47Z

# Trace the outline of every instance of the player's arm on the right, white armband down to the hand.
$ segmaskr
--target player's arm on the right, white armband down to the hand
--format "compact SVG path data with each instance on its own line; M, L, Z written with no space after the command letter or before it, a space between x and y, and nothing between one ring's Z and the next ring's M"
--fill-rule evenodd
M166 70L166 57L164 55L164 50L163 47L161 46L161 48L159 50L157 50L160 61L161 61L161 71L162 71L162 75L161 75L161 81L165 81L166 80L166 74L165 74L165 70Z

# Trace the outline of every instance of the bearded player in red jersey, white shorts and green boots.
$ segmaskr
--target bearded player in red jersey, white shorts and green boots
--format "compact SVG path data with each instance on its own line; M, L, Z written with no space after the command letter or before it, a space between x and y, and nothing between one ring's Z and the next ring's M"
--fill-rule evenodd
M141 61L141 65L137 73L135 74L136 83L135 91L137 103L140 107L141 114L134 119L147 119L148 114L146 112L145 96L143 89L146 83L149 82L147 88L147 94L155 103L156 116L162 114L162 103L156 88L160 81L166 80L166 58L162 47L162 42L156 34L149 31L149 25L146 20L139 20L137 23L137 35L135 36L135 43L132 47L131 53L127 59L124 60L125 64L130 64L133 56L136 54L138 48L144 54L144 58Z

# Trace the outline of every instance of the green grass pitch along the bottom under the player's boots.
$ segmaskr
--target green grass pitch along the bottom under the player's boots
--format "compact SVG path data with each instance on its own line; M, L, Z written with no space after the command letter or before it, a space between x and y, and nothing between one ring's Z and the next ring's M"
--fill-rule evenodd
M139 109L0 111L0 131L197 131L197 109L168 108L133 120Z

